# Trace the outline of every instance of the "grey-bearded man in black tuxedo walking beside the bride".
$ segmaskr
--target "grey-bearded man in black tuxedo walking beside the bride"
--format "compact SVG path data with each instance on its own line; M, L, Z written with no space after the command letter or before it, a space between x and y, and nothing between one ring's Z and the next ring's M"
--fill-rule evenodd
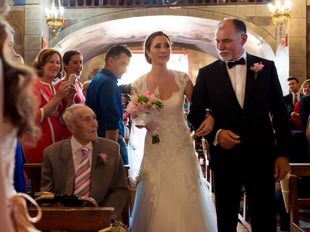
M226 19L217 26L221 59L199 70L188 116L199 136L208 130L206 109L215 119L206 138L218 232L236 232L243 186L252 232L276 232L275 180L290 169L286 157L291 131L276 67L273 61L246 53L247 38L239 19ZM264 67L256 75L250 67L260 62Z

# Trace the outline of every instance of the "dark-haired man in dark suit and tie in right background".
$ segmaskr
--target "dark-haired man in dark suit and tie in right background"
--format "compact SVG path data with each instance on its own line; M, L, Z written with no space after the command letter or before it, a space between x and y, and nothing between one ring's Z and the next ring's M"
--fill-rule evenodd
M302 94L302 92L299 89L299 81L296 77L290 76L287 79L287 83L289 85L289 89L290 89L291 93L284 96L284 101L285 101L287 106L289 106L289 105L291 106L291 111L289 112L289 113L291 113L294 110L294 106L299 101L300 97L302 97L304 95Z

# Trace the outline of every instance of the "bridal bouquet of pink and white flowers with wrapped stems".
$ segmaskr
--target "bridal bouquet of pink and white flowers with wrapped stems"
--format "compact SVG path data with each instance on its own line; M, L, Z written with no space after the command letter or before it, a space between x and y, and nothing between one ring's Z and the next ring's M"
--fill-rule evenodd
M132 124L137 127L145 127L148 131L151 131L152 143L158 144L160 142L157 134L158 123L153 118L164 107L164 101L151 92L134 93L130 96L130 99L127 112L134 117Z

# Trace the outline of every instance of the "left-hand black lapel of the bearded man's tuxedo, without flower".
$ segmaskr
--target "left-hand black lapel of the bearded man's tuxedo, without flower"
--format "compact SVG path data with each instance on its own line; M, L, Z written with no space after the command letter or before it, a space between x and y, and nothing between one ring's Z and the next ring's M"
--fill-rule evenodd
M236 93L233 90L233 85L226 69L226 63L222 60L219 60L217 67L218 70L215 72L215 75L220 82L219 87L223 88L224 93L227 94L231 98L232 102L236 105L236 107L242 111L242 108L236 97Z

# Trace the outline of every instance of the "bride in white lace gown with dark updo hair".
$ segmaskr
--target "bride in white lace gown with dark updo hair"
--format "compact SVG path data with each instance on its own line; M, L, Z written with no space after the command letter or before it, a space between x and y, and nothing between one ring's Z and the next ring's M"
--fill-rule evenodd
M184 95L190 102L193 84L186 73L167 68L171 41L165 33L152 33L144 47L152 69L132 84L132 94L153 92L165 103L155 118L160 143L152 144L151 132L146 133L131 231L216 232L211 192L184 119ZM207 117L203 133L213 124Z

